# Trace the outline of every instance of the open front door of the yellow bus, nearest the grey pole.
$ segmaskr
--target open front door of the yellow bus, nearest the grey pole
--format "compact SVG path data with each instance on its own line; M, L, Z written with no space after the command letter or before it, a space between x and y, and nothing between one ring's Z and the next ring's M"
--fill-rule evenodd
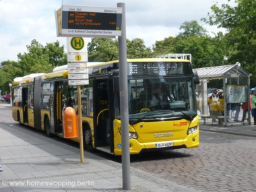
M95 145L96 148L106 147L108 152L110 152L110 125L112 124L109 116L109 86L107 79L96 79L94 82Z

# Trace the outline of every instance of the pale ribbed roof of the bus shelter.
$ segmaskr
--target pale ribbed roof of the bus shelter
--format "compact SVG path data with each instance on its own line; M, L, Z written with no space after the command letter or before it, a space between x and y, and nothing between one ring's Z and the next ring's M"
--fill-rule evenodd
M235 65L222 65L216 67L204 67L193 69L197 71L199 78L223 78L224 76L230 75L230 77L238 77L240 75L250 75L247 71L243 70L239 64Z

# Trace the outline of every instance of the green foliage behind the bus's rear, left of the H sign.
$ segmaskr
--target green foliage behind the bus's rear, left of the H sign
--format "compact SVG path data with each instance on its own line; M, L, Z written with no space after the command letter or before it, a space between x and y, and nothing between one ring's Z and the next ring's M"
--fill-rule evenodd
M0 65L0 89L2 93L9 93L9 83L15 77L22 77L30 73L47 73L59 65L67 64L67 54L59 41L42 46L37 40L27 45L27 53L18 54L18 62L3 61Z

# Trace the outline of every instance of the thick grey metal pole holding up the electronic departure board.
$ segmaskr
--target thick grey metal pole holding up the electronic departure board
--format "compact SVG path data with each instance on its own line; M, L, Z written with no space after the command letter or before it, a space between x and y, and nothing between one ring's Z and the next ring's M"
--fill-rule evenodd
M119 87L121 110L121 139L122 139L122 171L123 189L131 189L130 152L129 152L129 110L128 110L128 85L127 85L127 47L126 47L126 23L125 3L117 3L117 7L123 8L122 33L119 36Z

